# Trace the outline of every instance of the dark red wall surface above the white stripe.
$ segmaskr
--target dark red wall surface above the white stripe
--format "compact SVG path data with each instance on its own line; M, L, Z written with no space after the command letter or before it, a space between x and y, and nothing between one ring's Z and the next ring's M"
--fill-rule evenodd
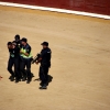
M110 15L110 0L1 0L32 6L61 8Z

